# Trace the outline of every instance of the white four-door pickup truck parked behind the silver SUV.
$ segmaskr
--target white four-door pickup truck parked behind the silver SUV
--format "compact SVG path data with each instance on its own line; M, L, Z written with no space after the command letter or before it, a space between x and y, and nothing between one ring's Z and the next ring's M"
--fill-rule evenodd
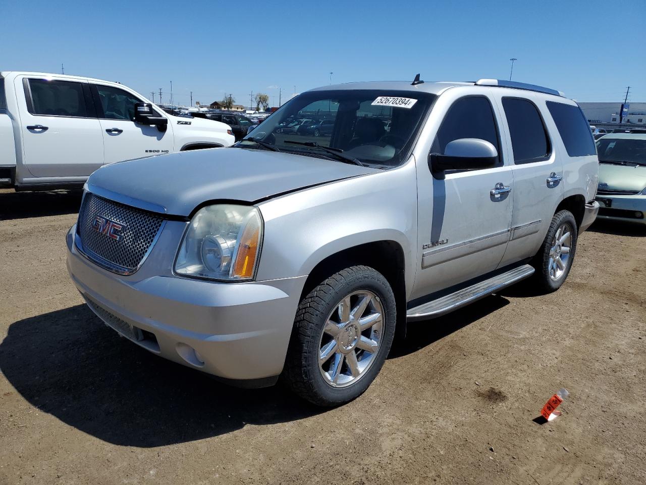
M120 83L0 72L0 187L80 188L106 164L234 141L228 125L164 113Z

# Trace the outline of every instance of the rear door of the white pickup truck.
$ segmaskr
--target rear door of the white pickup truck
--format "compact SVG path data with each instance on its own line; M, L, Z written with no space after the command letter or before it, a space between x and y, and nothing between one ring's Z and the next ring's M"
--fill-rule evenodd
M85 81L21 78L23 164L34 177L87 177L103 164L103 136Z

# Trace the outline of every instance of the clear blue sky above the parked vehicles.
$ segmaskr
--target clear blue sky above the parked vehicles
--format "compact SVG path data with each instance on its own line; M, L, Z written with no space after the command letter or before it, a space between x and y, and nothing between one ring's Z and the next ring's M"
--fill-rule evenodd
M0 0L0 70L115 80L168 102L329 83L515 81L581 102L646 102L646 0ZM253 27L251 27L253 26ZM638 36L633 38L633 36ZM631 43L639 48L630 48ZM155 95L155 102L158 96Z

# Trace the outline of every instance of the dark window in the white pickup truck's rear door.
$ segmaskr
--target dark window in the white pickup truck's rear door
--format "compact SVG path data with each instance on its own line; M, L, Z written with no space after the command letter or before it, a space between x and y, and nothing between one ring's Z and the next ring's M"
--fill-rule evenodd
M72 81L29 80L33 114L54 116L87 116L81 83Z

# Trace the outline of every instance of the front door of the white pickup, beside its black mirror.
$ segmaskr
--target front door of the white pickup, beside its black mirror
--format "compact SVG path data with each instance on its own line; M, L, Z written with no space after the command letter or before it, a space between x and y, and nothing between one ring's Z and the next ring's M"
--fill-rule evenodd
M153 125L135 123L134 105L145 102L125 89L90 83L94 103L103 133L103 160L105 164L161 155L174 149L173 126L169 122L165 132ZM166 116L158 113L156 116Z

